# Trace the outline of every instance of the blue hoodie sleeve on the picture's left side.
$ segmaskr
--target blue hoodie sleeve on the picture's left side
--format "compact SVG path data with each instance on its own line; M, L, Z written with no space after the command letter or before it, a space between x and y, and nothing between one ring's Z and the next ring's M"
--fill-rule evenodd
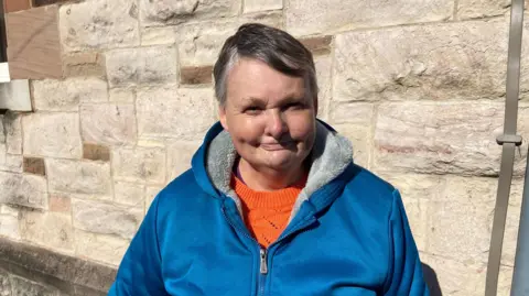
M109 296L168 295L163 286L158 241L158 204L154 198L127 250Z

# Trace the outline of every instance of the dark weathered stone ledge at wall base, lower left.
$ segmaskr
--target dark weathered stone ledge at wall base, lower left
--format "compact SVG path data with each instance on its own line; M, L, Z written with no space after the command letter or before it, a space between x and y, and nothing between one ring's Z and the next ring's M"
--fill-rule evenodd
M0 266L13 275L74 295L107 295L117 270L0 238Z

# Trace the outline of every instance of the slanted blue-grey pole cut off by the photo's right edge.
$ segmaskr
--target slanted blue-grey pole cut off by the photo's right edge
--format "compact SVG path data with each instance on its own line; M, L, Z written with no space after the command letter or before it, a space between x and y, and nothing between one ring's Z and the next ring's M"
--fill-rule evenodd
M527 152L526 179L521 199L520 227L516 248L515 273L511 296L529 296L529 147Z

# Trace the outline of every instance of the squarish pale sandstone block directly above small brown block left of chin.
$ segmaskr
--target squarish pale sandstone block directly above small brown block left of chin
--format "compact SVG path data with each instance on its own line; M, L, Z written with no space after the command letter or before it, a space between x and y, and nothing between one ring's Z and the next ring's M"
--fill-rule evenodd
M136 142L134 106L126 103L84 105L80 107L83 139L108 145Z

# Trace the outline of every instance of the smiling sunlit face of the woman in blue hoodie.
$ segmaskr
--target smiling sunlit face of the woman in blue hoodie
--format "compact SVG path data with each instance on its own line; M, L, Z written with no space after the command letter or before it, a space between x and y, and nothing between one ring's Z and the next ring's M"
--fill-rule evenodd
M220 122L239 155L255 169L296 169L312 150L316 99L303 78L257 59L241 58L228 73Z

